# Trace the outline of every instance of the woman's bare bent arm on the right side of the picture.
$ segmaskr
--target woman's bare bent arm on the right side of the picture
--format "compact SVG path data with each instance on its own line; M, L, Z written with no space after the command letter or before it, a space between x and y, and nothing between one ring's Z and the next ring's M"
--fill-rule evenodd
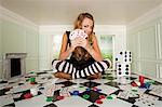
M103 61L103 56L102 56L102 53L100 53L100 50L99 50L95 35L93 35L92 41L93 41L92 48L87 44L85 50L92 55L92 57L95 61L100 62L100 61Z

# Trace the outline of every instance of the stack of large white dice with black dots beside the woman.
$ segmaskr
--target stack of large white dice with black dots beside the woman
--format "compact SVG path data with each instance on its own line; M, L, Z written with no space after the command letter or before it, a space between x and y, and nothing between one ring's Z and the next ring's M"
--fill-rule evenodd
M132 53L130 51L122 51L116 58L117 76L130 76L131 75Z

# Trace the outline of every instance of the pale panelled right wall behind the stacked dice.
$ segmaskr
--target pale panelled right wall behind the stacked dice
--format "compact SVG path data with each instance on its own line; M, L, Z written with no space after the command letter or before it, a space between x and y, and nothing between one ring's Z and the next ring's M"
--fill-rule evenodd
M127 49L133 52L133 71L162 78L162 5L130 23Z

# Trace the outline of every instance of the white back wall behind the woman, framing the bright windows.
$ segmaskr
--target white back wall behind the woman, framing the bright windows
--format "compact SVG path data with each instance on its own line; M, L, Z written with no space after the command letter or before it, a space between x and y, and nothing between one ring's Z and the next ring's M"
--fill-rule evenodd
M49 25L39 27L39 69L51 69L51 62L53 59L51 49L51 36L59 35L60 41L63 34L66 30L72 30L72 25ZM126 48L126 29L123 25L95 25L94 29L96 36L98 35L114 35L114 55ZM59 48L59 46L58 46Z

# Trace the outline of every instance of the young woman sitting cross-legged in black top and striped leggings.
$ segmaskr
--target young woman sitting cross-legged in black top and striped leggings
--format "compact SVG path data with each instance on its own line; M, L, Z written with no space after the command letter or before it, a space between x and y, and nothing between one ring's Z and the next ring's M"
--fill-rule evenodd
M102 72L110 67L110 62L103 59L94 29L94 18L90 13L81 13L75 22L73 29L82 29L86 39L78 37L69 39L69 31L63 36L59 58L52 65L57 72L56 78L100 78ZM70 58L68 59L68 57Z

